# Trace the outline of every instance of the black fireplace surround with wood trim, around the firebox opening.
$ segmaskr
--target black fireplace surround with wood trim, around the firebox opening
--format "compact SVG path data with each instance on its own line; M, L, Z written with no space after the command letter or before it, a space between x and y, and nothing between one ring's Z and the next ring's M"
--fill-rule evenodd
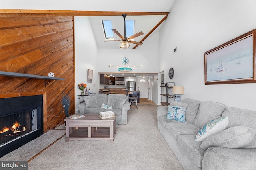
M42 135L46 129L47 116L46 92L0 94L0 117L35 108L38 109L36 114L40 117L38 129L0 145L0 157Z

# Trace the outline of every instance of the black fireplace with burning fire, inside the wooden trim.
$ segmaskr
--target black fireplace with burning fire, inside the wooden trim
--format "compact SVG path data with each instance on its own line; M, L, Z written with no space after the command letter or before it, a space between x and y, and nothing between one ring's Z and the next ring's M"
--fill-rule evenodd
M43 133L43 97L0 99L0 157Z

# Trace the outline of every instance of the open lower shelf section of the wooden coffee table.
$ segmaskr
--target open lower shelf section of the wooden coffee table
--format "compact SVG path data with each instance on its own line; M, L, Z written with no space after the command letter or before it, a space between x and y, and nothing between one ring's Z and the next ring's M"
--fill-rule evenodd
M88 127L69 127L73 131L69 137L65 137L65 141L76 141L76 140L100 140L113 142L114 137L110 138L110 128L108 127L92 127L91 137L88 137ZM114 132L115 134L116 132Z

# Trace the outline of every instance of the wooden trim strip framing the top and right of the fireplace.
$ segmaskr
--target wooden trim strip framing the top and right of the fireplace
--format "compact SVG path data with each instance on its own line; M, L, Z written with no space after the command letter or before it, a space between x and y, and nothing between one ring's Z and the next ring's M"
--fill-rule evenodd
M42 92L20 92L20 93L5 93L0 94L0 98L15 98L15 97L22 97L22 96L34 96L34 95L43 95L43 122L44 122L44 133L47 132L47 95L46 91Z

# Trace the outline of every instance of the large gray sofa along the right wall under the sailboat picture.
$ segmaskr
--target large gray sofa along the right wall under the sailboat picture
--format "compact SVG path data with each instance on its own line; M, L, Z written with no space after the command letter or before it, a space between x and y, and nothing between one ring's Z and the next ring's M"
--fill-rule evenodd
M160 106L158 129L184 169L256 169L256 111L188 98L170 105L186 107L186 123L166 119L168 106ZM222 116L228 116L226 129L195 141L202 127Z

